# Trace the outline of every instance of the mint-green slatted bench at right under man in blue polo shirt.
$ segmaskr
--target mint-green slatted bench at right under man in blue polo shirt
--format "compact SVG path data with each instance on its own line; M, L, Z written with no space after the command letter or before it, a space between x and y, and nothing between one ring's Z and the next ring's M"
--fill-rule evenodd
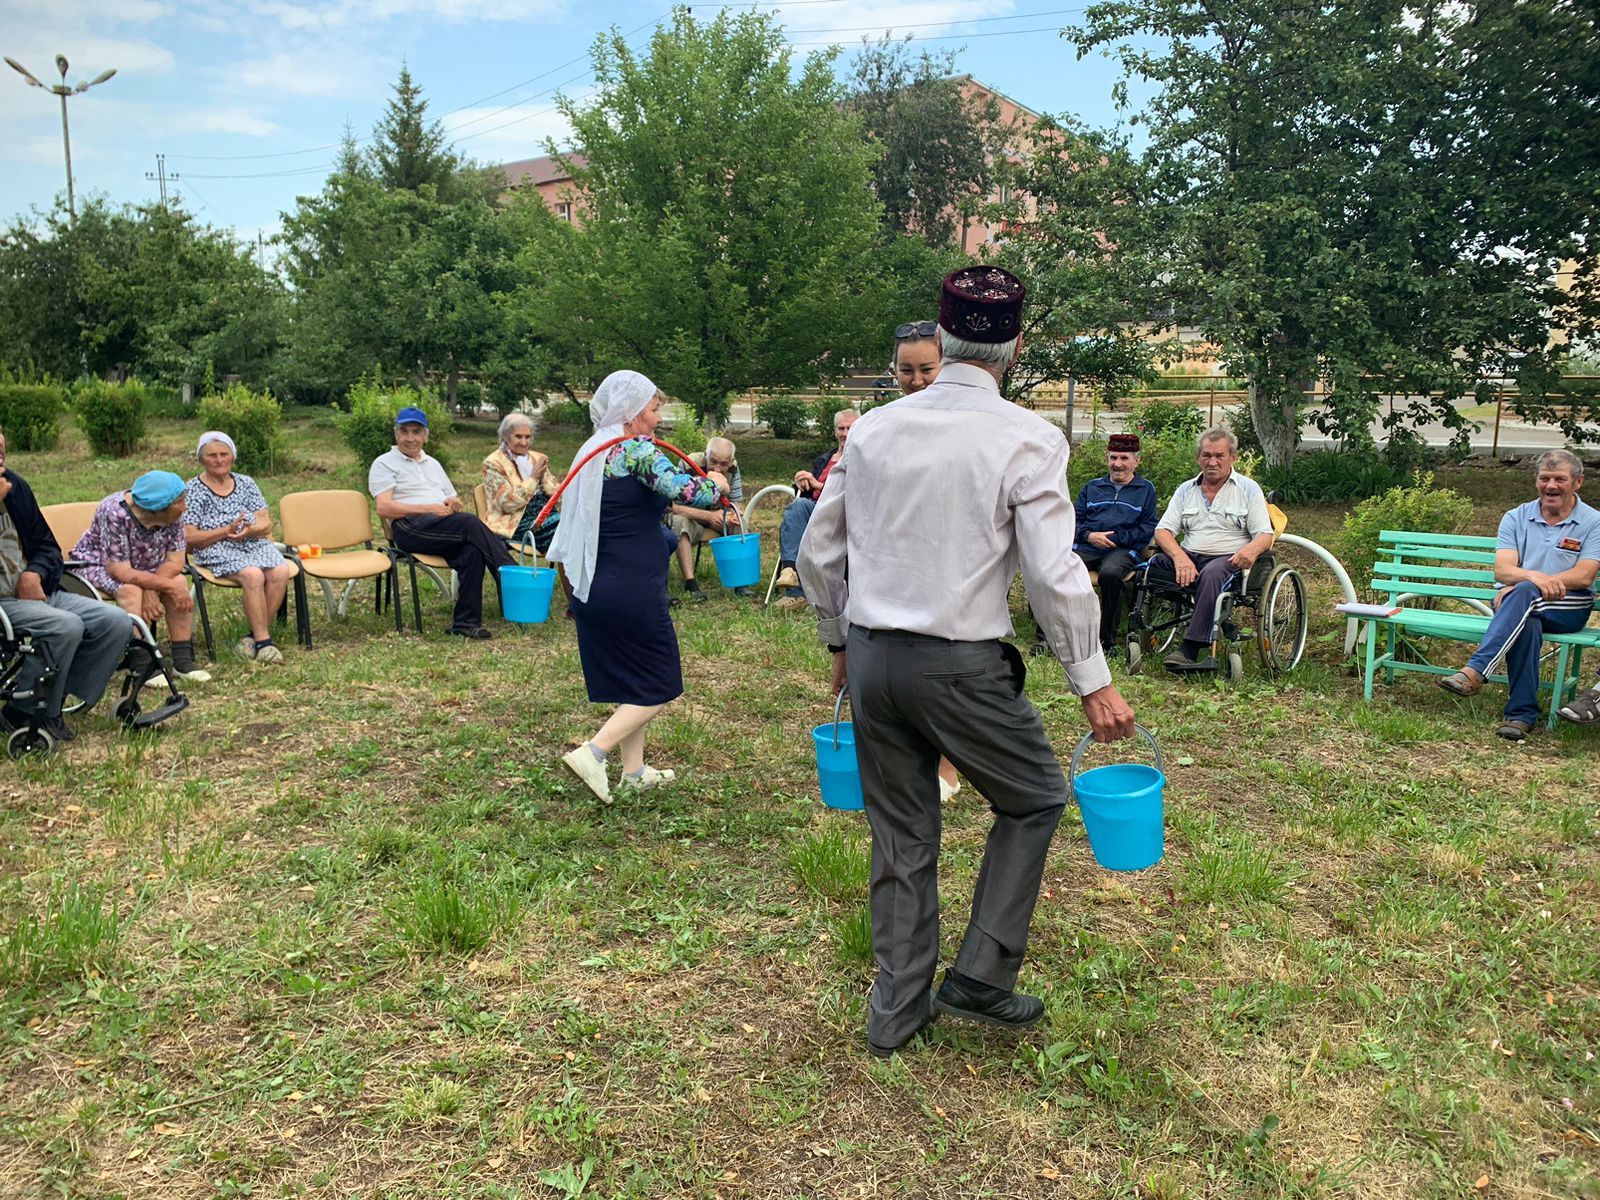
M1483 640L1494 613L1494 598L1502 586L1494 581L1494 539L1470 538L1450 533L1408 533L1384 530L1378 534L1378 562L1373 565L1373 590L1387 598L1394 616L1362 618L1366 630L1366 677L1363 696L1373 698L1373 678L1384 672L1384 682L1394 683L1395 674L1418 670L1427 675L1453 675L1459 667L1435 666L1418 645L1418 638L1445 638L1475 646ZM1418 602L1450 602L1459 608L1424 608ZM1461 611L1461 610L1466 611ZM1379 630L1384 648L1379 650ZM1578 688L1582 672L1584 650L1600 648L1600 629L1579 629L1573 634L1546 634L1546 659L1555 661L1555 678L1539 683L1549 691L1549 726L1555 728L1555 710ZM1541 664L1542 666L1542 664ZM1506 683L1504 675L1491 675L1491 682Z

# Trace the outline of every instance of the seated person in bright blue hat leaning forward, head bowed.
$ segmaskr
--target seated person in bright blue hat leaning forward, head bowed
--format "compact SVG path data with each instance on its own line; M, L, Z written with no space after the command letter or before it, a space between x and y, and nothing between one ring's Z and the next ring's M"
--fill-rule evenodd
M211 678L195 666L195 605L184 579L184 482L178 475L147 470L126 491L102 499L67 557L75 574L123 611L146 624L166 618L178 675L194 683Z

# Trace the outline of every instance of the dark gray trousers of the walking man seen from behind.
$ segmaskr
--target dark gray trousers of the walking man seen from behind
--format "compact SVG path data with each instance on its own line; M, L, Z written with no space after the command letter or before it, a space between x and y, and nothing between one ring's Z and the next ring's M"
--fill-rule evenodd
M1022 966L1050 838L1067 781L1022 658L1005 642L947 642L850 629L850 706L872 827L872 954L878 978L867 1035L907 1038L928 1019L939 965L942 752L994 813L955 970L1011 989Z

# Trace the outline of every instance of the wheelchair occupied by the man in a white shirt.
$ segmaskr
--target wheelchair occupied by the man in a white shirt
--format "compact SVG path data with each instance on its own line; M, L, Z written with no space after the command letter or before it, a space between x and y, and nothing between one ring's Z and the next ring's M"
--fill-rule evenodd
M1269 504L1274 536L1288 518ZM1128 611L1128 674L1138 675L1152 659L1182 637L1194 613L1194 589L1179 587L1170 574L1150 574L1150 562L1134 568L1134 597ZM1248 624L1242 618L1248 613ZM1250 571L1234 571L1216 600L1211 618L1211 651L1218 669L1230 680L1243 678L1240 653L1246 637L1254 637L1256 654L1270 675L1293 670L1306 653L1306 584L1293 566L1278 562L1269 549ZM1251 626L1254 627L1251 630Z

